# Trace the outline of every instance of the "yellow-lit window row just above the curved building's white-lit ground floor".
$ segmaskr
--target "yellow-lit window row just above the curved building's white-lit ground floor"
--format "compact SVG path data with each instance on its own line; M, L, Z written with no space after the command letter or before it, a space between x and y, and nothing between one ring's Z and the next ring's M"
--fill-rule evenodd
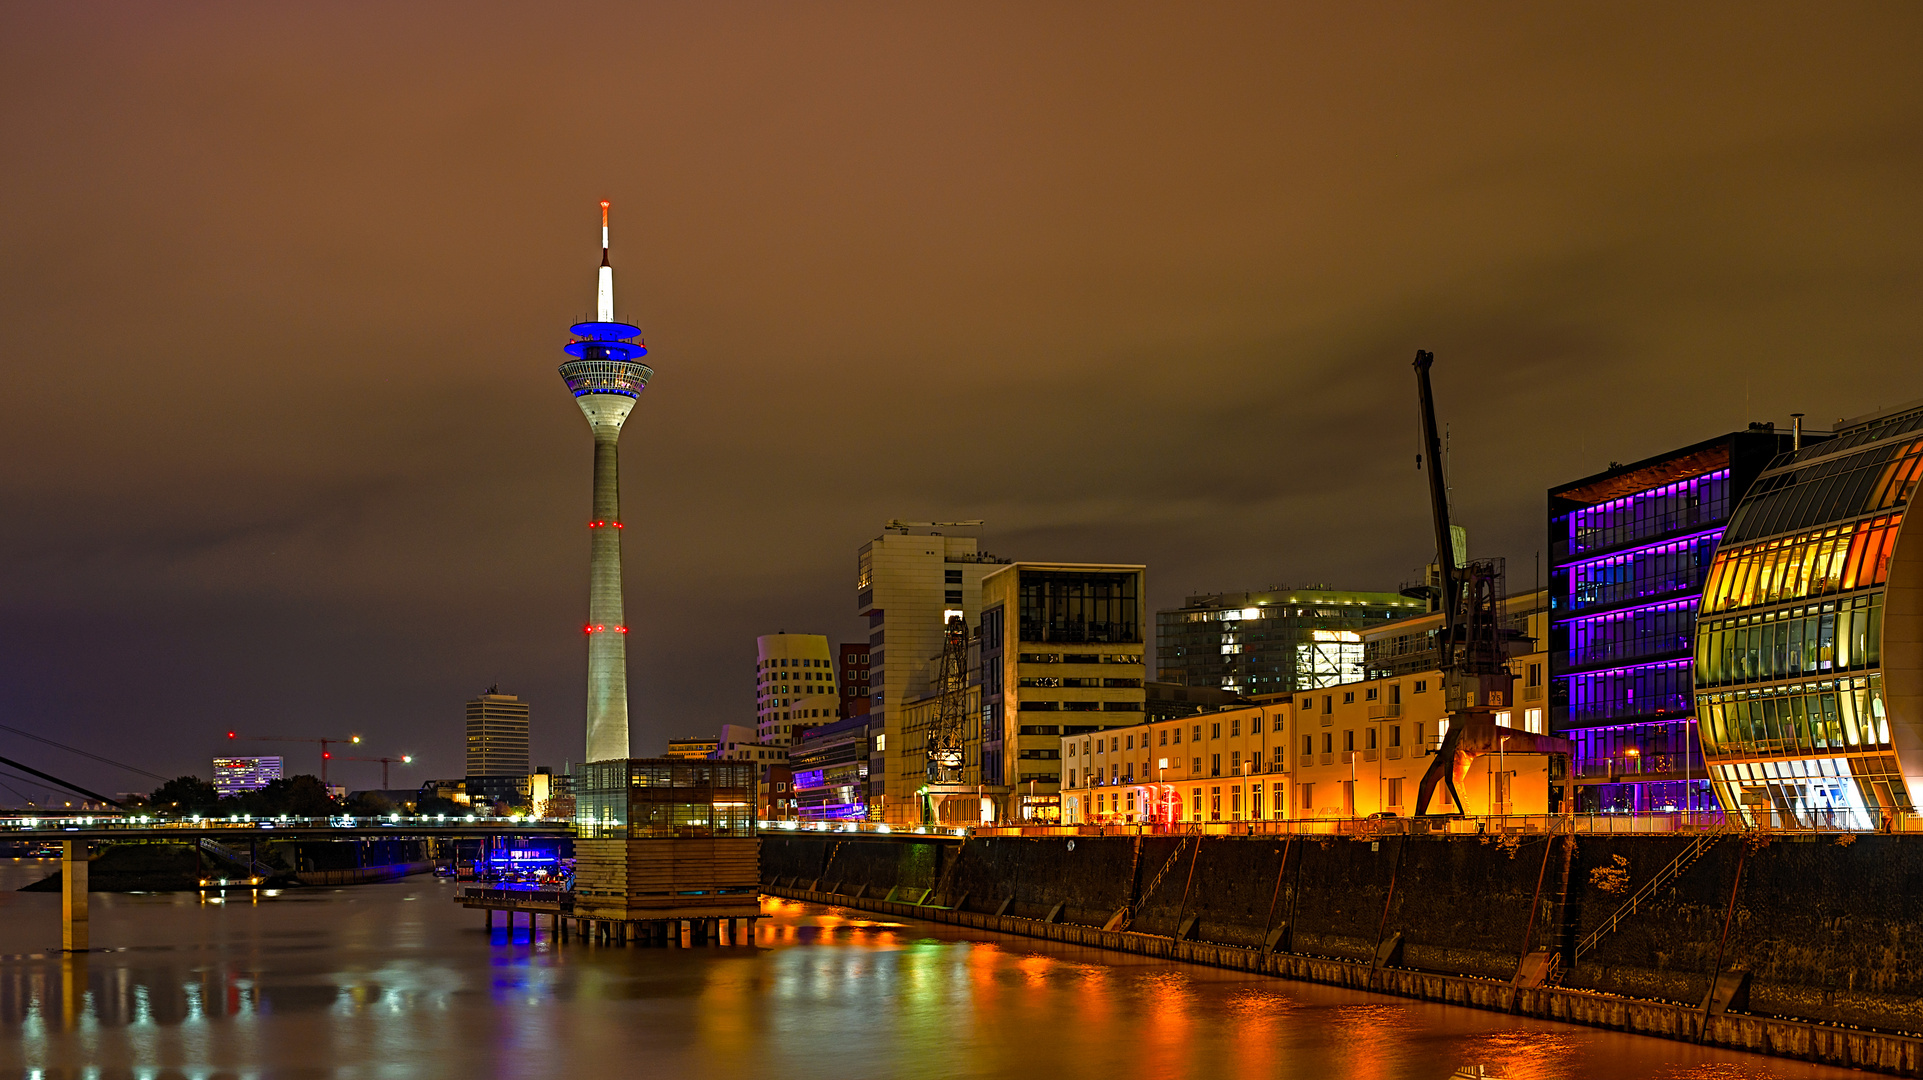
M1706 755L1785 757L1890 746L1881 675L1702 694L1696 723Z

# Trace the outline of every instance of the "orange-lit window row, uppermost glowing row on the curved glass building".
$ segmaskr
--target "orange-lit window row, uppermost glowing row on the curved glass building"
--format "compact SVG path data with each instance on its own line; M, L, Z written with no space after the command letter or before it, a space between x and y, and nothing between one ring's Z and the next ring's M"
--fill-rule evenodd
M1702 592L1702 613L1738 611L1786 600L1883 584L1904 515L1725 548Z

